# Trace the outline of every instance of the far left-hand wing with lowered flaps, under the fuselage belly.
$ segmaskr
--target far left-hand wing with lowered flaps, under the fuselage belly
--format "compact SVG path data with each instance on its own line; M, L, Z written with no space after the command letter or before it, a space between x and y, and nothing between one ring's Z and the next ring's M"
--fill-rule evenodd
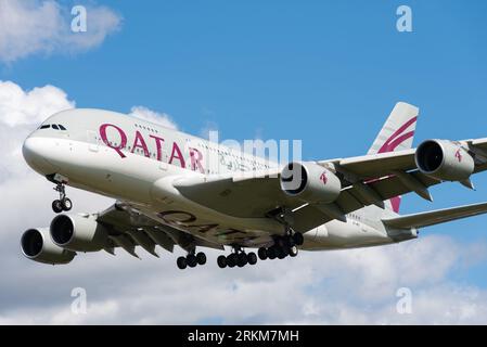
M155 246L159 245L168 252L175 245L185 250L194 246L223 249L221 245L195 237L178 229L162 224L127 203L117 202L106 210L98 214L97 221L108 231L110 246L106 252L113 254L115 247L121 247L130 255L139 257L136 246L141 246L150 254L158 257Z

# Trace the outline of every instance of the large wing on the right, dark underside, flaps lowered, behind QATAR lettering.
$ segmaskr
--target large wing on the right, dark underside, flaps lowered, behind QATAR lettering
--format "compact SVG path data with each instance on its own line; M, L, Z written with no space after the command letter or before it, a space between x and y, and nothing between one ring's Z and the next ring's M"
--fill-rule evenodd
M460 141L475 162L474 172L487 169L487 139ZM306 203L282 192L279 172L252 172L248 177L209 177L198 181L181 179L175 188L187 198L235 217L269 217L286 207L292 227L309 231L368 205L384 207L383 201L414 192L432 200L428 188L441 181L420 172L415 149L317 162L334 171L343 189L333 204ZM467 184L466 182L463 182Z

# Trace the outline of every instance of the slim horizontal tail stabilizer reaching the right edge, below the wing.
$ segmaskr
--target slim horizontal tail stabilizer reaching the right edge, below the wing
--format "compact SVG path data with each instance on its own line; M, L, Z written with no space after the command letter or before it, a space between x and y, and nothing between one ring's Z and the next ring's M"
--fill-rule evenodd
M485 213L487 213L487 203L480 203L437 209L422 214L405 215L395 218L385 218L382 221L387 227L410 229L439 224L456 219L482 215Z

